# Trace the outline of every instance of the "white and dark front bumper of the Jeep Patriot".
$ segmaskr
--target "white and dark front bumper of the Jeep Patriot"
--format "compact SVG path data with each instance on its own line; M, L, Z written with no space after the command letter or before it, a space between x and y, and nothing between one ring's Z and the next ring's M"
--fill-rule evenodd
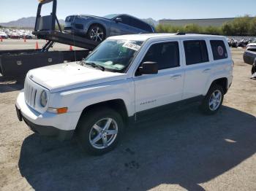
M51 136L61 141L72 138L80 117L79 112L40 114L26 104L24 93L18 95L16 111L18 119L26 122L35 133L41 136Z

